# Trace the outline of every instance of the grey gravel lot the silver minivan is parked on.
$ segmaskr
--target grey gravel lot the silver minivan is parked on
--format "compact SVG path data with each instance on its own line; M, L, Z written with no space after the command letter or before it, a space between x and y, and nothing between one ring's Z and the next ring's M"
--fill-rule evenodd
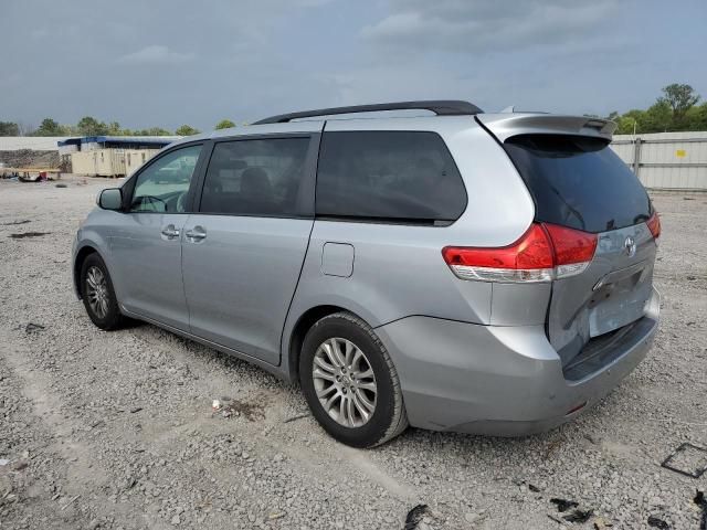
M355 451L256 368L148 325L96 329L71 242L112 182L0 182L0 528L402 529L416 505L410 528L699 528L707 474L659 463L707 446L707 194L654 194L661 331L599 406L540 436L409 430ZM221 398L239 414L212 415Z

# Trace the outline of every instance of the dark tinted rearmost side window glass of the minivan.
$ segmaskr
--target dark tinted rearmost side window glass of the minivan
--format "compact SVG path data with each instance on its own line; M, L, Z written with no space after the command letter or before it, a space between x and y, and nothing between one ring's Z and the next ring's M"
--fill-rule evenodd
M465 208L462 177L435 132L324 134L317 215L449 224Z

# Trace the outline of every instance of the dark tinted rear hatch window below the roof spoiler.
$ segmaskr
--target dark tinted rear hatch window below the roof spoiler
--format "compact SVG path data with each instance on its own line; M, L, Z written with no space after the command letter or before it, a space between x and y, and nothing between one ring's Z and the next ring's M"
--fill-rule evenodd
M599 233L651 216L645 189L603 139L520 135L504 147L535 200L537 221Z

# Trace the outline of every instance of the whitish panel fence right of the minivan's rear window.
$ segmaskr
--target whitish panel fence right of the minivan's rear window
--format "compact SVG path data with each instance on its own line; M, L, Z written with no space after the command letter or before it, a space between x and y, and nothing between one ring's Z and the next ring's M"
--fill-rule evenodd
M707 191L707 131L616 135L611 147L646 188Z

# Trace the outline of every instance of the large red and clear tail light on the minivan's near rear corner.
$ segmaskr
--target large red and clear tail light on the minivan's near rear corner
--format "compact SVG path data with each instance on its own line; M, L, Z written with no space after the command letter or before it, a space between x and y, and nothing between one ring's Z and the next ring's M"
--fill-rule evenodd
M532 223L504 247L446 246L442 256L462 279L551 282L582 273L594 257L597 234L547 223Z

